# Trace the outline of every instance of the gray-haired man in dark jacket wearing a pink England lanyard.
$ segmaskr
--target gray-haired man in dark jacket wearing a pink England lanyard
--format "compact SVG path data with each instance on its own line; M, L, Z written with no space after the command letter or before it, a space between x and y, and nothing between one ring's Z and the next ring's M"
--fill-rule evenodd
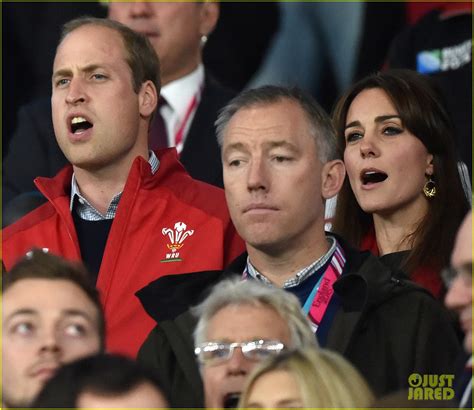
M412 373L450 373L460 346L443 307L324 231L326 200L345 169L322 108L299 89L266 86L238 95L216 125L227 205L247 252L224 273L162 278L142 290L159 327L139 358L172 384L191 380L197 371L182 365L194 323L186 309L206 285L237 275L296 295L319 344L345 356L377 395L408 387Z

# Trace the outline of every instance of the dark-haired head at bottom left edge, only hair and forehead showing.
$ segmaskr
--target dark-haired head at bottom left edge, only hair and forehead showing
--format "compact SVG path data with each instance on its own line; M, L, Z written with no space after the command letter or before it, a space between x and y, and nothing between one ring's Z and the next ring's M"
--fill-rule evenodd
M136 362L98 355L63 366L34 403L38 408L167 408L161 384Z

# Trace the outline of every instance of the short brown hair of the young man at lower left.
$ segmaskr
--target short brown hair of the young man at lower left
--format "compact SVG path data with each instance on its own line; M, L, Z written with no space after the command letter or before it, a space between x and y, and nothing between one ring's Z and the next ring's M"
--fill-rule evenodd
M105 346L105 319L92 275L79 262L70 262L40 249L29 251L9 272L2 272L2 294L24 279L67 280L77 285L97 308L101 350Z

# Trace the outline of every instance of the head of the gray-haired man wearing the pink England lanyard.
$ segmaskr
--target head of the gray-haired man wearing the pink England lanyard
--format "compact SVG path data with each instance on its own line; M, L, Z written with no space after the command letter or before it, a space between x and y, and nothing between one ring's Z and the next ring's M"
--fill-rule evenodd
M301 90L265 86L238 95L216 126L227 204L249 254L314 254L325 200L345 175L327 114Z

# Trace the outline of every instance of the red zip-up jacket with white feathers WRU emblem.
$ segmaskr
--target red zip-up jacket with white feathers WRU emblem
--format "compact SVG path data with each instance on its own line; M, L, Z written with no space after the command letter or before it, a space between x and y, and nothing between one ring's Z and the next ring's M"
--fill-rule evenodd
M221 270L244 250L224 191L192 179L175 149L157 152L153 175L135 159L112 223L97 279L107 350L134 357L156 323L135 292L160 276ZM33 247L80 260L70 211L72 166L35 184L48 202L3 231L7 271Z

